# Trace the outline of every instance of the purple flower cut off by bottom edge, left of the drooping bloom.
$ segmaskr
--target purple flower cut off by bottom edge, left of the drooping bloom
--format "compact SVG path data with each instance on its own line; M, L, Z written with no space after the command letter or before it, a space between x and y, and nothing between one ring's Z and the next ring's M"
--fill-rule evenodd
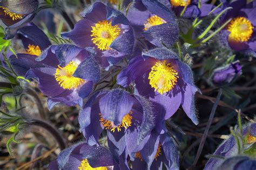
M113 167L112 154L102 146L90 146L78 143L59 153L56 160L51 161L48 169L96 169L107 170Z

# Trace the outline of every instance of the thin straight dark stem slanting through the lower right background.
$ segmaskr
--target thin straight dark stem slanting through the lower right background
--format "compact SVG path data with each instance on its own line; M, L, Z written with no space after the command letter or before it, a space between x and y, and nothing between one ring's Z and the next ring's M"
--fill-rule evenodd
M192 167L195 167L197 165L197 162L198 162L198 159L201 155L201 152L203 151L203 147L204 147L204 144L205 144L205 140L206 140L206 137L207 137L207 134L208 134L208 131L210 129L210 126L212 124L212 121L213 121L213 118L214 118L214 115L215 115L215 111L218 107L218 103L220 101L220 97L221 97L221 94L222 94L222 89L219 89L219 92L218 92L218 95L217 95L217 98L216 98L216 101L212 107L212 111L211 111L211 114L210 114L210 117L209 117L209 120L208 120L208 124L205 128L205 131L204 131L204 134L203 134L203 137L201 139L201 142L200 142L200 145L199 145L199 148L198 148L198 151L197 151L197 155L196 155L196 158L194 159L194 162L192 164Z

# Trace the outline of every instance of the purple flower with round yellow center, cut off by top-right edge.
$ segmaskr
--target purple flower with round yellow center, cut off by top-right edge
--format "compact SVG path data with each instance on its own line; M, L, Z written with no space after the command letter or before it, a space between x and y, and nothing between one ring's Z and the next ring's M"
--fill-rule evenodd
M256 51L255 16L256 2L246 4L245 0L235 1L230 4L233 8L229 10L222 23L232 19L230 23L220 32L220 40L223 44L230 46L235 51L243 51L254 54Z

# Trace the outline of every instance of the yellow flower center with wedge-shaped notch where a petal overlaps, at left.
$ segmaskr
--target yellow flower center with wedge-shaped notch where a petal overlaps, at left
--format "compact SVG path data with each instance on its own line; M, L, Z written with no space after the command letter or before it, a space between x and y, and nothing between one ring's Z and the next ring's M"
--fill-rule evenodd
M73 73L77 69L77 63L70 61L65 67L60 67L56 69L55 79L60 84L63 89L75 89L79 87L85 80L78 77L73 77Z

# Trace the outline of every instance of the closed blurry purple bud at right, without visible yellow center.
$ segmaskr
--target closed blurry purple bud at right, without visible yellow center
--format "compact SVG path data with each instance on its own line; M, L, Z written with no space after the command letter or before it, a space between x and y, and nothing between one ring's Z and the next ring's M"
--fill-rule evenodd
M212 82L217 86L224 86L233 82L242 74L242 67L239 61L230 63L224 67L219 67L213 70Z

